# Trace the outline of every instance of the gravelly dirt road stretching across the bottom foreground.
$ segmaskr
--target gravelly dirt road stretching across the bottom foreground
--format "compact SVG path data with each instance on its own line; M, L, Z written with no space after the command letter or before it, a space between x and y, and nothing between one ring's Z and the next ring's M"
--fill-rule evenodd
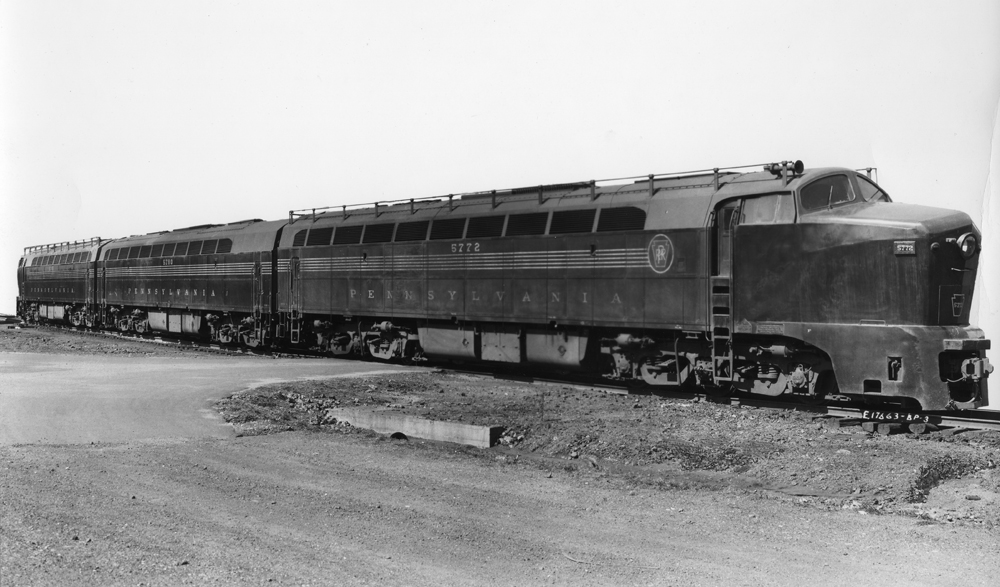
M993 585L997 534L283 433L0 450L7 585Z

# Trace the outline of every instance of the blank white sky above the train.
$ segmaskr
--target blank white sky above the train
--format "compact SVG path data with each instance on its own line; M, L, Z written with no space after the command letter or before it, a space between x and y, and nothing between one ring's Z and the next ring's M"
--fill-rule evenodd
M995 0L5 0L0 311L29 245L802 159L972 216L1000 339L998 113Z

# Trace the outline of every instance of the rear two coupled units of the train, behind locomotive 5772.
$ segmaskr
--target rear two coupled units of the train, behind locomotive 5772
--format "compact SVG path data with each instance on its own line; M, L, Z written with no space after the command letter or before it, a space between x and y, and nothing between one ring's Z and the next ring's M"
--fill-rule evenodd
M284 224L247 220L29 247L18 269L18 312L29 321L258 346L275 322L272 252ZM74 248L84 249L86 266Z

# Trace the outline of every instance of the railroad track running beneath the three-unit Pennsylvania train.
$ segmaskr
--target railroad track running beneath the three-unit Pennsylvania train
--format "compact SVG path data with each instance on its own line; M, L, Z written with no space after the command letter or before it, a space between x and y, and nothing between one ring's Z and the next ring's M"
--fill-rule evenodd
M85 333L95 336L105 336L120 340L134 340L149 342L153 344L176 345L180 347L192 348L198 351L219 353L224 355L253 355L262 357L281 358L330 358L320 353L296 350L289 352L285 350L275 351L268 348L250 349L246 347L227 347L217 343L205 343L189 339L164 337L159 334L138 334L122 333L112 330L96 330L75 326L62 326L46 324L42 328L53 328L58 330L68 330L77 333ZM349 360L370 360L358 357L341 357ZM951 412L903 412L886 409L876 409L855 405L830 405L830 404L803 404L794 402L779 402L773 399L762 399L756 397L730 396L719 397L712 394L694 393L687 391L671 391L654 388L648 385L627 385L608 381L595 381L593 378L566 376L555 378L551 375L537 375L523 370L489 369L486 367L477 368L468 365L455 366L450 363L435 363L426 361L428 367L437 367L450 373L465 373L480 377L493 377L525 383L537 383L543 385L573 386L586 389L597 389L605 393L615 393L621 395L642 394L656 395L660 397L670 397L674 399L699 400L712 402L719 405L753 406L756 408L769 408L778 410L795 410L815 414L817 420L825 421L831 427L842 428L847 426L862 426L868 432L880 434L894 434L898 432L913 432L922 434L938 429L952 430L1000 430L1000 411L975 411L956 410Z

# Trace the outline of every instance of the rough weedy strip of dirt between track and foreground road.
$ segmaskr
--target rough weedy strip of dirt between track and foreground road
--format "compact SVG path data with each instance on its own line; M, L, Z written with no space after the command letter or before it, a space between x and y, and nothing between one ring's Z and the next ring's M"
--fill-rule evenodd
M821 510L903 513L1000 531L1000 433L831 430L809 412L617 395L447 372L298 382L219 402L237 433L354 432L327 410L370 407L502 426L539 466L591 469L660 489L738 489ZM955 492L961 495L955 497Z

